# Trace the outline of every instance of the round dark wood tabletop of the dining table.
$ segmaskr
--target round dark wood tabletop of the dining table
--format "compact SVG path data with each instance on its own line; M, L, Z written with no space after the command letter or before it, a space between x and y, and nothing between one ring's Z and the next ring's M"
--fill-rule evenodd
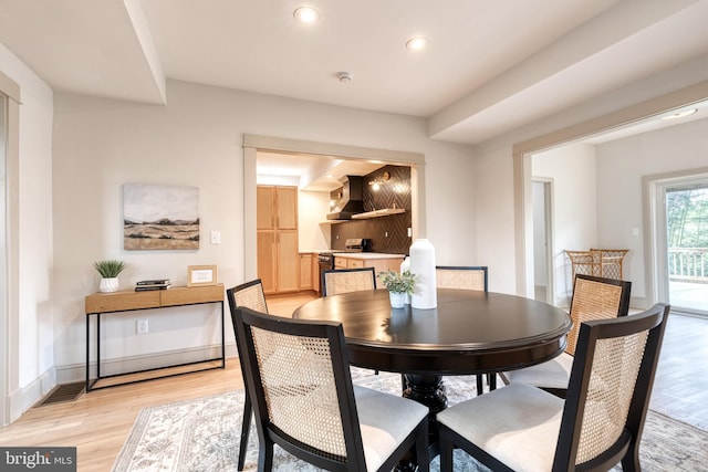
M358 367L406 374L462 375L521 368L565 349L570 316L516 295L438 290L438 306L392 308L388 291L316 298L300 319L340 321Z

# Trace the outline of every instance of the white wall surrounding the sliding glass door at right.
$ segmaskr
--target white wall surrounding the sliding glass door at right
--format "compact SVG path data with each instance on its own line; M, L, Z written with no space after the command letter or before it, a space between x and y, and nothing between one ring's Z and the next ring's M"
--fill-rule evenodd
M708 119L627 137L597 146L598 244L629 249L625 279L632 298L642 303L645 283L642 178L656 174L705 168L708 165ZM639 234L633 235L632 229ZM650 304L655 301L642 303Z

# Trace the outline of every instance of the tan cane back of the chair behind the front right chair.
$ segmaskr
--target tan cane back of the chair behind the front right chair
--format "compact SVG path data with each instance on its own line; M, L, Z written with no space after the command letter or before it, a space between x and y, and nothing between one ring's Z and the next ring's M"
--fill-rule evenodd
M570 316L573 327L568 334L565 352L575 355L577 333L583 322L625 316L629 312L632 282L575 275Z

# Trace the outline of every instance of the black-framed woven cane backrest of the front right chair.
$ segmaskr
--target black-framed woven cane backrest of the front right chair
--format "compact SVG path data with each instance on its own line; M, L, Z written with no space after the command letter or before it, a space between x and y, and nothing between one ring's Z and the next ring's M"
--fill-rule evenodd
M623 470L641 470L637 448L668 313L657 304L581 325L553 470L610 469L621 459Z

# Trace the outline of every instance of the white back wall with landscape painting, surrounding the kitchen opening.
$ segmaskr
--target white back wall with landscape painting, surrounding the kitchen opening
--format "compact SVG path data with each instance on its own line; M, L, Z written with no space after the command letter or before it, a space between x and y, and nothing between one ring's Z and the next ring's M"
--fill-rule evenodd
M83 300L98 284L93 261L127 261L122 289L153 276L184 283L190 264L216 264L219 281L227 286L244 281L243 211L256 209L243 208L243 181L252 178L243 175L243 134L425 154L427 238L440 260L476 262L470 148L429 140L423 119L175 81L168 82L167 92L166 106L55 95L55 355L56 365L71 370L67 376L83 374ZM200 249L123 250L125 182L199 187ZM320 203L325 206L324 200ZM325 212L317 211L317 221ZM301 224L310 224L302 218ZM459 231L449 231L450 222ZM221 232L220 245L205 239L211 230ZM319 244L316 231L305 232L309 242L301 241L301 249ZM227 340L232 343L230 329L229 325ZM127 350L140 355L167 345L163 338L168 336L168 329L155 333L149 347L140 346L128 329L115 344L132 343ZM115 355L127 353L108 357Z

